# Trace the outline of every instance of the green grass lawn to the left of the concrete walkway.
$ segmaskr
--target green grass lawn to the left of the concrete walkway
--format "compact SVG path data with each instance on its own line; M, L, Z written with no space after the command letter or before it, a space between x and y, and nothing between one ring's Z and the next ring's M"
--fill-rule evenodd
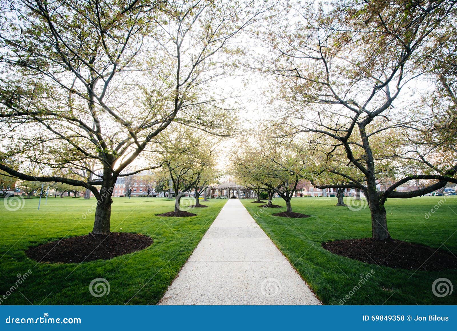
M173 210L166 198L113 198L111 231L142 233L154 239L145 250L74 264L37 263L24 251L49 241L92 231L94 198L25 199L17 211L0 204L0 297L28 269L29 277L1 304L156 304L195 249L226 200L194 208L195 217L158 217ZM85 215L88 215L87 217ZM89 284L105 278L110 293L92 296Z

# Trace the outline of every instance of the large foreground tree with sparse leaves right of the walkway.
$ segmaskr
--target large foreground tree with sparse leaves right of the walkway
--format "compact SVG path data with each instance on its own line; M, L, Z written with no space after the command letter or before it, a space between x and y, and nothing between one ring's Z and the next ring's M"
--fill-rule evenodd
M371 212L373 239L390 238L384 207L388 198L423 195L456 180L455 163L437 163L433 155L422 153L405 138L424 127L417 113L405 112L407 104L398 98L421 74L414 56L441 22L453 15L453 6L451 1L423 5L349 1L329 10L309 6L300 11L302 20L294 17L293 22L283 22L281 29L272 25L264 39L277 54L268 70L278 76L279 98L287 103L283 120L294 134L310 132L321 146L345 150L348 167L329 166L328 170L348 184L317 187L362 190ZM386 130L395 134L388 135ZM403 177L378 192L377 167L387 160L401 164L395 172ZM405 162L429 171L402 172ZM363 180L353 178L353 173L361 174ZM395 190L417 178L435 182L409 192Z

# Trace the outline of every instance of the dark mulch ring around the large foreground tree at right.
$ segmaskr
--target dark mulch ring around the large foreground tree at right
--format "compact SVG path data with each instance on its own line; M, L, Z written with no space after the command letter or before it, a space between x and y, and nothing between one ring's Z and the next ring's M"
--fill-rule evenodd
M396 239L335 240L322 243L322 247L350 259L391 268L425 271L457 268L457 258L451 253Z

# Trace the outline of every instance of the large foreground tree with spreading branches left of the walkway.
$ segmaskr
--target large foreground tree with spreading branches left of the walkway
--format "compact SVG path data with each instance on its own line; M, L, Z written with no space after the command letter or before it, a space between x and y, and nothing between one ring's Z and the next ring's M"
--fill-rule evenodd
M124 171L170 123L230 130L223 98L208 87L233 72L228 41L264 10L253 1L9 1L1 12L0 120L11 140L0 170L90 190L92 233L107 235L117 178L159 167ZM16 130L25 125L32 134ZM14 170L7 157L29 159L43 175ZM46 174L53 168L84 177Z

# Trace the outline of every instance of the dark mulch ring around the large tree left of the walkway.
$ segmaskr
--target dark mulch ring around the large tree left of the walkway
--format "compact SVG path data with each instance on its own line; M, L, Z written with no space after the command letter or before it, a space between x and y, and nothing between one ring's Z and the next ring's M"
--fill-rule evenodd
M38 262L79 263L109 260L115 256L144 250L153 243L143 234L112 232L106 236L85 236L55 240L27 250L27 256Z

